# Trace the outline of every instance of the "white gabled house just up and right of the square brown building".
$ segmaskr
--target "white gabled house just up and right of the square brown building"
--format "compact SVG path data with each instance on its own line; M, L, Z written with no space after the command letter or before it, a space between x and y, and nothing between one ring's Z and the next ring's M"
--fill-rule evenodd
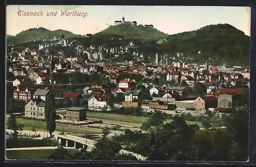
M88 109L101 111L106 108L106 101L95 96L91 96L88 99Z

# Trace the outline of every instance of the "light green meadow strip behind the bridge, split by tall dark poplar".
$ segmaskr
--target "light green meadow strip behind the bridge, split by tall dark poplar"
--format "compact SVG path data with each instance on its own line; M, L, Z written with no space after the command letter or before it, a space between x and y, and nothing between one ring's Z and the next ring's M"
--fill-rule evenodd
M26 119L17 119L17 123L23 124L24 130L31 130L32 127L36 129L36 131L45 131L46 123L44 121L36 121L36 120L26 120ZM63 127L65 132L74 132L74 133L88 133L88 134L98 134L102 132L102 129L98 128L86 128L79 127L74 125L60 124L56 123L57 131L63 131Z

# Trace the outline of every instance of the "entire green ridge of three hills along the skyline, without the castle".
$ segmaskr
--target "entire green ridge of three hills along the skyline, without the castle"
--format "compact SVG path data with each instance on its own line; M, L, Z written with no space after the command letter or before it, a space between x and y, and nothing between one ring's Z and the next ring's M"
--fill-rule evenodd
M205 61L205 59L209 59L213 55L218 55L221 58L220 61L228 61L230 64L249 65L250 61L250 37L230 24L212 24L195 31L175 35L167 35L153 27L143 25L119 24L111 25L89 38L65 30L51 31L40 27L39 29L29 29L20 32L16 36L7 35L7 44L21 44L33 41L34 39L53 38L62 34L67 38L84 40L87 44L90 44L92 41L94 43L98 41L99 44L113 43L111 38L118 36L125 38L125 41L133 39L144 42L148 40L156 41L148 45L148 47L153 49L147 48L148 51L153 50L152 54L157 51L156 49L170 54L183 52L190 57L196 58L196 61ZM166 40L157 43L160 39Z

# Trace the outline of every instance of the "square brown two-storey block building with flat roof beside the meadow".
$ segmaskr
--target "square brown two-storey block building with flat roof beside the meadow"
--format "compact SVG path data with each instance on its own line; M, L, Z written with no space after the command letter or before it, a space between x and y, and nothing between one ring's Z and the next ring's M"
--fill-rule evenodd
M84 107L69 107L66 108L66 120L69 121L86 121L86 108Z

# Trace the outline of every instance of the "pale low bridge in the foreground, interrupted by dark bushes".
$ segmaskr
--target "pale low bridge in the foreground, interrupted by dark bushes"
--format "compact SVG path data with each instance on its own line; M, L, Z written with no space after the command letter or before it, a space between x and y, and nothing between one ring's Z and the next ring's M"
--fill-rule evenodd
M87 151L92 151L92 149L95 147L95 144L97 143L88 138L78 137L78 136L69 135L69 134L57 135L57 141L63 147L74 147L75 149L80 149L80 148L84 148L87 146ZM136 154L134 152L126 151L123 149L119 151L119 154L132 154L138 160L146 160L147 159L146 157L144 157L140 154Z

